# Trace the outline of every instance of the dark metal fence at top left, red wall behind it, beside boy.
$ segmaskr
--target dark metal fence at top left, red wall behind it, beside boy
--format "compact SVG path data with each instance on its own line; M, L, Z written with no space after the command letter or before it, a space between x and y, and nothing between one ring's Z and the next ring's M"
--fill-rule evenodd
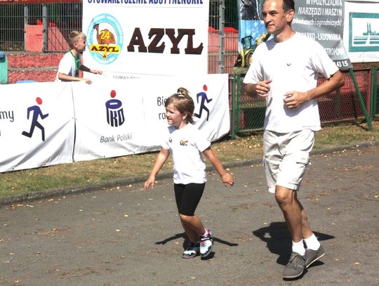
M36 43L44 52L67 51L69 32L81 30L83 5L78 0L45 2L1 1L0 51L28 51Z

